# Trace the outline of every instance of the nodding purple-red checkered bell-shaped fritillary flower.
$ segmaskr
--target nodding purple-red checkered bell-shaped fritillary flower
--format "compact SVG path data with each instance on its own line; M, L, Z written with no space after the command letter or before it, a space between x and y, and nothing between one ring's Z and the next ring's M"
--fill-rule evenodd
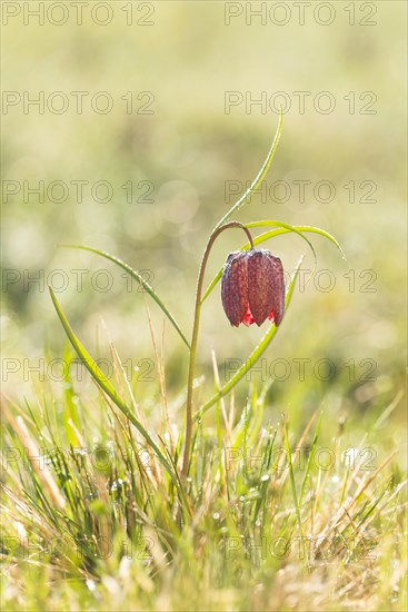
M222 306L231 325L258 326L269 318L278 326L285 312L283 268L269 250L237 250L222 273Z

